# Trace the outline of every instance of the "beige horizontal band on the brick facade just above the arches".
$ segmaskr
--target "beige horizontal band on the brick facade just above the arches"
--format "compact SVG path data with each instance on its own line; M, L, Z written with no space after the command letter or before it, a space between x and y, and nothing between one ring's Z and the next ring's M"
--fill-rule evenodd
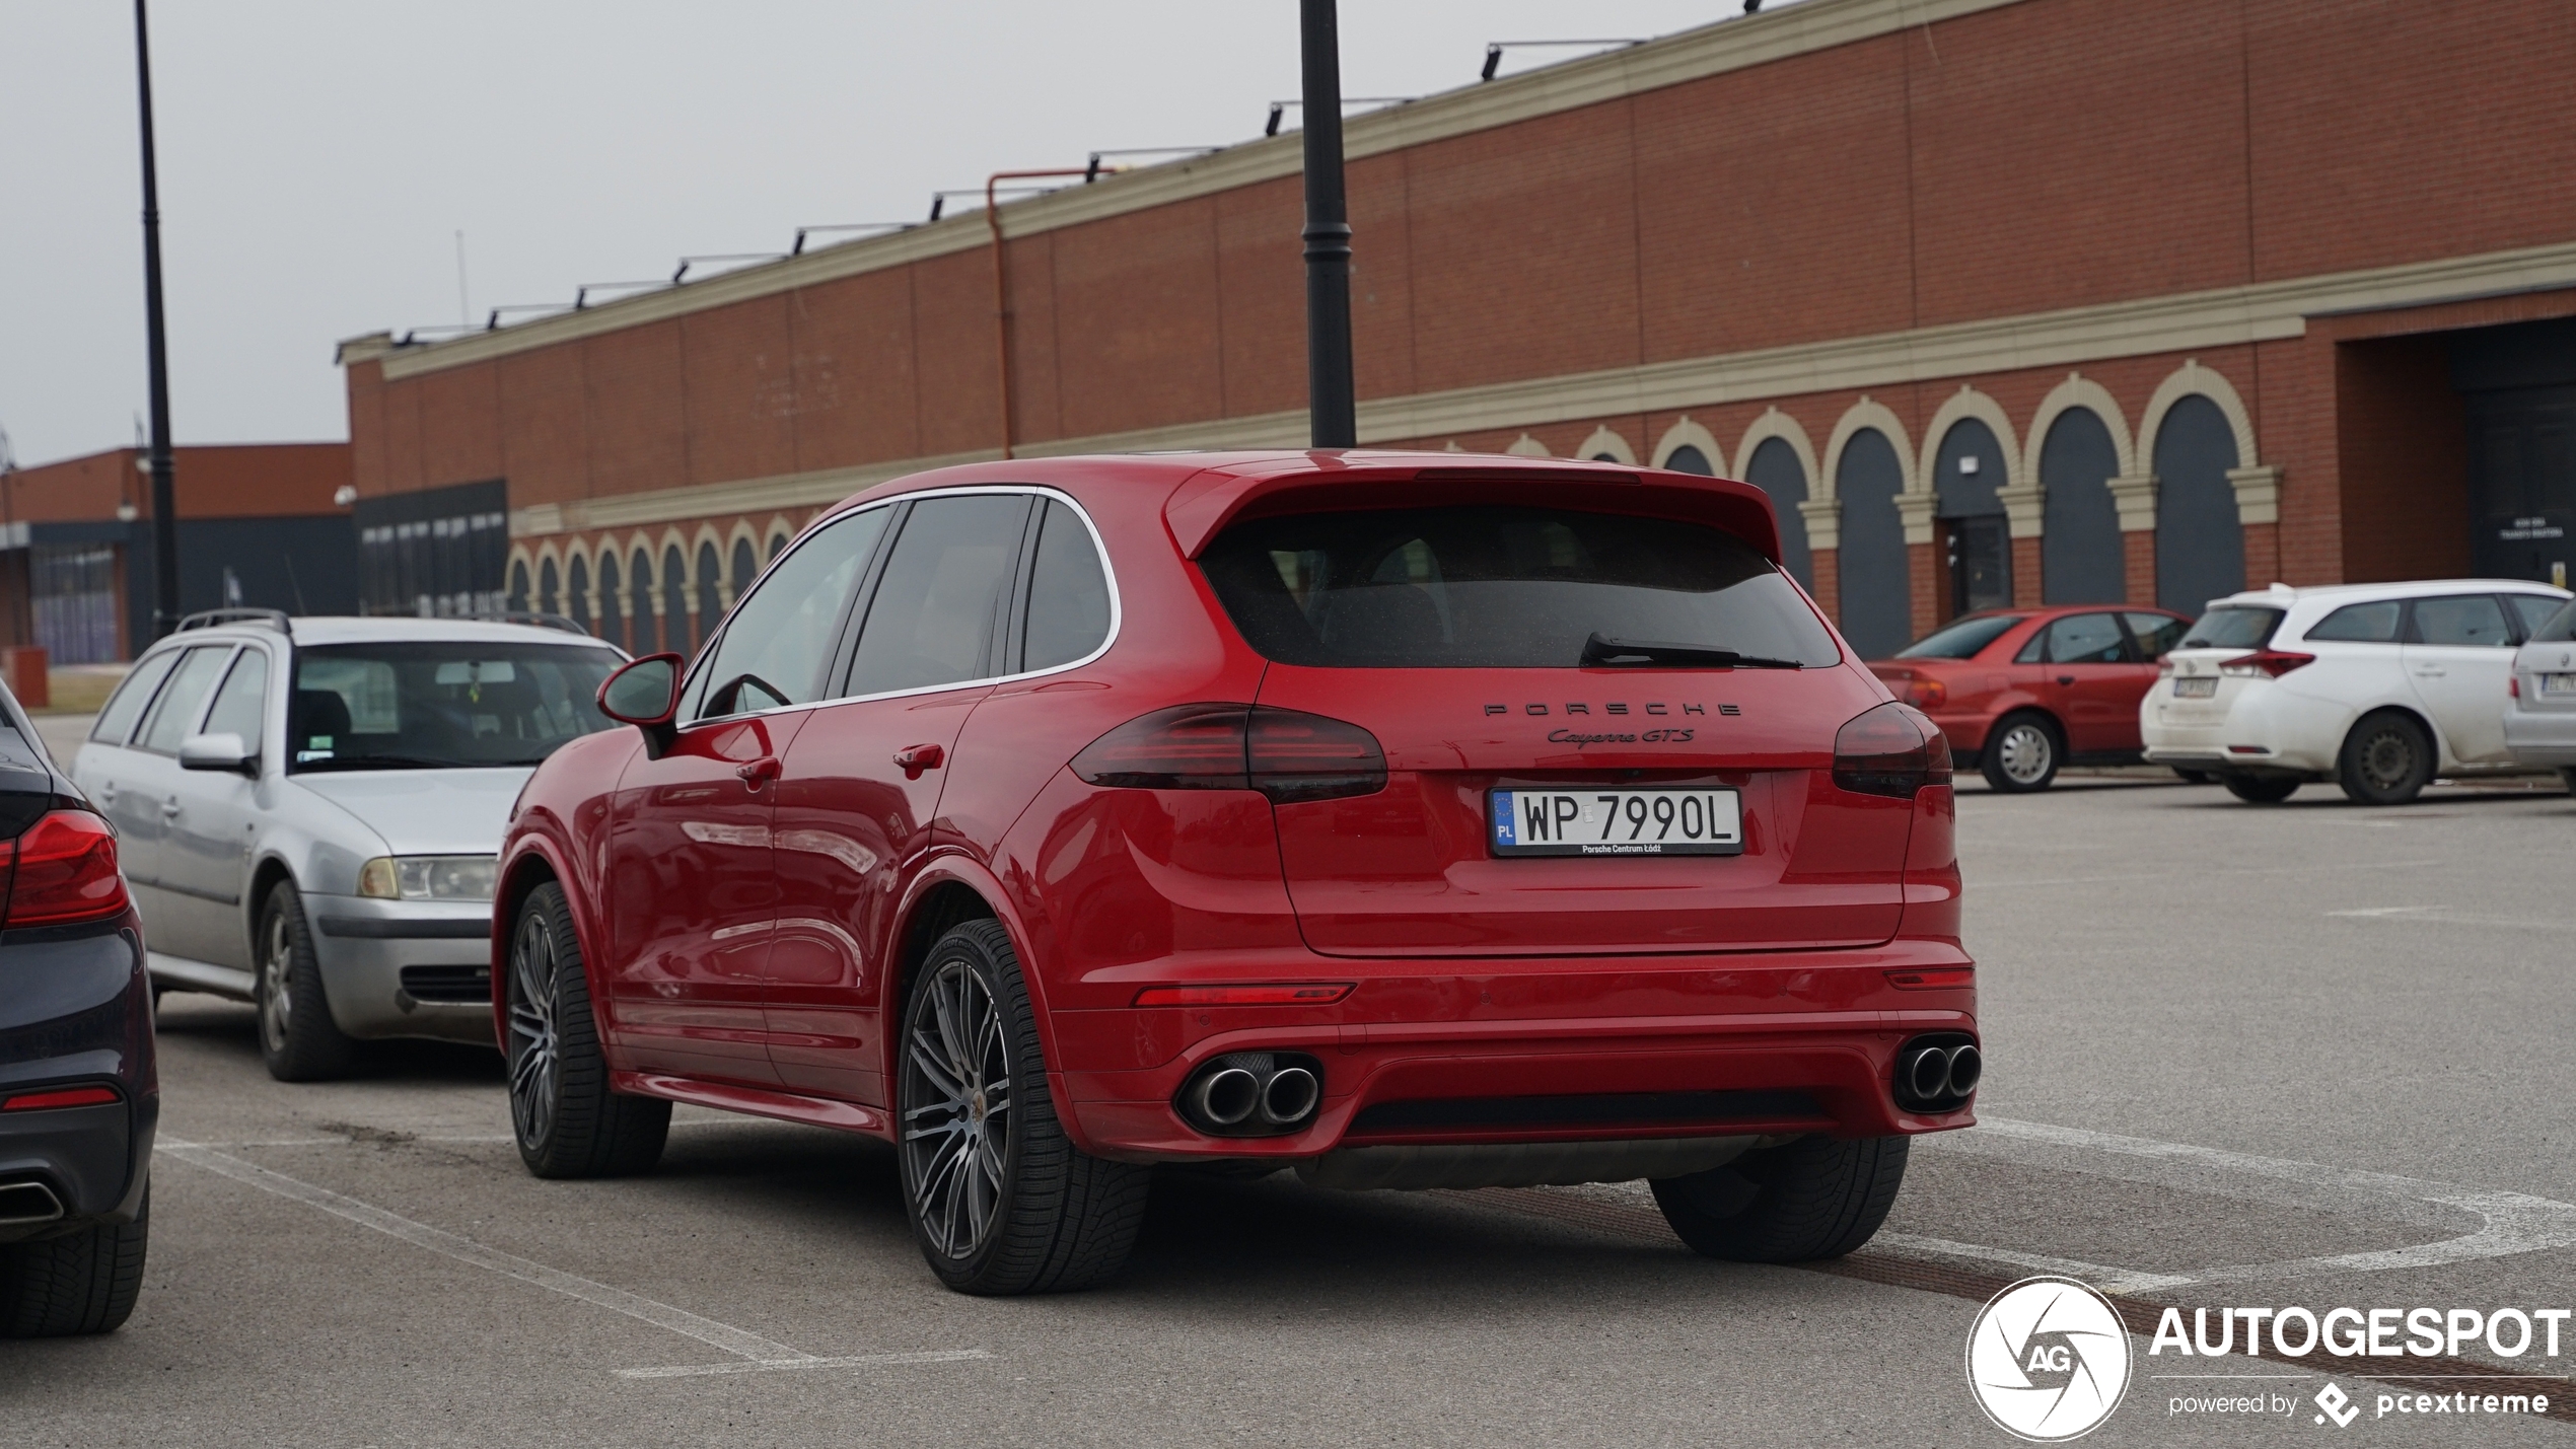
M1610 368L1489 383L1473 389L1360 399L1360 443L1450 438L1543 422L1579 422L1633 412L1680 412L1723 401L1759 401L1821 391L1857 391L1935 378L1968 378L2020 368L2071 368L2102 358L2192 353L2280 337L2303 337L2308 317L2385 311L2522 291L2576 288L2576 245L2524 247L2476 257L2445 257L2403 268L2329 273L2275 283L2233 286L2069 311L2002 317L1919 327L1875 337L1806 342L1762 353L1687 358L1643 368ZM1020 456L1159 453L1177 448L1303 448L1306 412L1208 417L1170 427L1097 432L1023 443ZM2009 445L2009 440L2007 440ZM2141 443L2143 448L2143 443ZM2246 453L2251 456L2251 453ZM567 504L536 504L510 515L513 535L582 528L634 528L641 522L719 517L775 507L840 502L863 486L981 463L999 450L899 458L855 468L824 468L734 484L701 484L652 494L621 494ZM1736 463L1741 466L1741 453ZM1911 466L1911 453L1906 453ZM1829 489L1832 484L1816 484ZM1819 492L1829 497L1829 492Z

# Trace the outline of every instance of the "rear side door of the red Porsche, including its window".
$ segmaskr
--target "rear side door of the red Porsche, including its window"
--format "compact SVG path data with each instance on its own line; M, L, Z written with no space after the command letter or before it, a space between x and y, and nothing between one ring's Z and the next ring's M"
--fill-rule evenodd
M778 782L770 1060L791 1091L884 1104L878 999L902 883L935 842L966 715L999 674L1028 492L904 504L858 649Z

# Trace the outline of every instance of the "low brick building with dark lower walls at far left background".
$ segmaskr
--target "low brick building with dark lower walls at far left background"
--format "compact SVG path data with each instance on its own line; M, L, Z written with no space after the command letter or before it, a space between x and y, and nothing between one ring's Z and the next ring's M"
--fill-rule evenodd
M348 443L173 448L180 610L358 613ZM152 479L142 448L0 474L0 643L54 664L152 643Z

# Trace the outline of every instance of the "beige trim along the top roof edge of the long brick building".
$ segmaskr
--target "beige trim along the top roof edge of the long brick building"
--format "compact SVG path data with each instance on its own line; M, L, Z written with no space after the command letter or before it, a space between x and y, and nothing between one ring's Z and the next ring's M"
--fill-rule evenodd
M1628 46L1595 57L1551 64L1507 80L1463 85L1440 95L1427 95L1409 106L1388 106L1365 116L1352 116L1342 126L1342 154L1350 160L1376 157L1404 147L1419 147L1448 136L1466 136L1620 100L1667 85L1705 80L1731 69L1747 69L1832 46L1847 46L1886 36L1909 26L1953 21L1978 10L2017 5L2020 0L1806 0L1767 15L1731 15L1680 31L1643 46ZM1059 226L1079 226L1128 211L1170 206L1195 196L1213 196L1262 180L1298 175L1303 170L1301 139L1296 134L1265 136L1224 152L1139 167L1133 172L1103 178L1097 185L1069 185L1048 196L1012 201L1002 208L1002 232L1030 237ZM902 268L948 252L989 245L984 216L969 211L909 232L868 237L835 247L817 247L801 257L729 270L688 286L647 291L618 301L603 301L582 311L562 311L518 322L495 332L469 332L446 342L386 350L386 381L410 378L487 358L505 358L533 347L551 347L580 337L598 337L644 322L662 322L690 311L729 306L757 296L773 296L799 286L817 286L884 268ZM355 340L353 340L355 342ZM376 353L368 353L376 355ZM350 353L343 363L361 360Z

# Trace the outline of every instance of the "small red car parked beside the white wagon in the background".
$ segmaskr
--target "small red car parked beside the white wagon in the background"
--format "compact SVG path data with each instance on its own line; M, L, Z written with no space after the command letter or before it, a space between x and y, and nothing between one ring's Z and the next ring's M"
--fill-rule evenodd
M2138 700L2192 620L2156 607L1986 610L1870 664L1932 715L1996 790L2045 790L2061 764L2136 764Z

